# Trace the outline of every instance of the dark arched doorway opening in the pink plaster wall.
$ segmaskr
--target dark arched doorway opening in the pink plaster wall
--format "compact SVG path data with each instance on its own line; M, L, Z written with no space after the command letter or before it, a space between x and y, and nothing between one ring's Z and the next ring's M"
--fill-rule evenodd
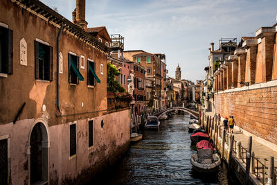
M35 123L30 134L30 184L48 181L48 132L43 123Z

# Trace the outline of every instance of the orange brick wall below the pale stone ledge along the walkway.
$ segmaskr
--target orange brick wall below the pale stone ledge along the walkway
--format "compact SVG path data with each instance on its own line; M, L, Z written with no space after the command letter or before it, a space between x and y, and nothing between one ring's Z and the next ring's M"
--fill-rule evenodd
M242 129L277 144L277 87L215 94L215 112L234 116Z

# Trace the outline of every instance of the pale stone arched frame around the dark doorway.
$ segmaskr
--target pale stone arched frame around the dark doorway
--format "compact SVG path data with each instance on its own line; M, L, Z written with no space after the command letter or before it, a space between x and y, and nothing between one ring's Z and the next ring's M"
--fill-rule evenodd
M48 124L47 122L43 119L43 118L37 118L33 125L30 127L30 132L29 132L29 136L28 136L28 150L27 150L27 155L28 155L28 185L30 185L30 137L31 134L33 132L33 128L35 127L35 125L37 124L42 124L44 127L41 127L41 131L42 131L42 156L43 159L42 160L47 160L47 162L45 163L46 165L44 165L42 168L42 176L47 176L46 182L42 182L42 184L49 184L49 155L50 155L50 138L49 138L49 128L48 128ZM47 157L45 157L45 155L47 155Z

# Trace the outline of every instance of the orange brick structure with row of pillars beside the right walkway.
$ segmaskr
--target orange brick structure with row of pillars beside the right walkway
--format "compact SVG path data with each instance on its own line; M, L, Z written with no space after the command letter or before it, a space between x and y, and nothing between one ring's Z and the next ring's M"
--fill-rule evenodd
M245 133L277 150L277 27L242 37L238 48L215 71L215 113L234 116Z

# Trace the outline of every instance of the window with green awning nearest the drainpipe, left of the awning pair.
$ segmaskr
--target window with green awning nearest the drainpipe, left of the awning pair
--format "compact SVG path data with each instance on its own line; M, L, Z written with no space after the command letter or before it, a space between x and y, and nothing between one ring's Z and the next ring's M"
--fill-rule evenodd
M84 81L84 77L79 71L79 57L75 53L69 52L69 83L78 84L79 80Z

